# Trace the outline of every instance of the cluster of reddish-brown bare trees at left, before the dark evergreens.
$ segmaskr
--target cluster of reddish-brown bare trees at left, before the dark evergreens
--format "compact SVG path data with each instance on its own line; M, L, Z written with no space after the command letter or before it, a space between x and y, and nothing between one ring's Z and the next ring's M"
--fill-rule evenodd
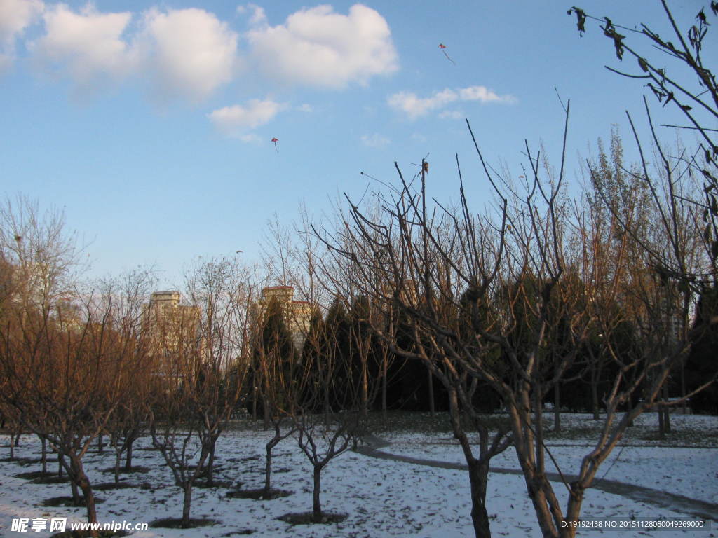
M129 470L133 443L149 430L185 491L188 522L192 483L200 471L211 482L215 442L241 394L248 272L227 260L198 265L187 285L192 316L152 319L151 271L90 285L62 214L19 196L6 199L0 220L4 423L39 437L43 471L45 447L57 453L88 522L97 522L83 466L90 446L108 433L118 482L123 454Z

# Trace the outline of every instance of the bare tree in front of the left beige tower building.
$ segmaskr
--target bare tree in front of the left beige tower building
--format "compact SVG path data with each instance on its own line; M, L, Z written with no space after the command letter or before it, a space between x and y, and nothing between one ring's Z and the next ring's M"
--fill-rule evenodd
M161 366L154 374L150 433L182 488L182 528L192 525L197 479L213 482L215 443L242 395L250 276L236 260L208 260L188 275L190 305L148 308L147 321L164 342L152 350Z

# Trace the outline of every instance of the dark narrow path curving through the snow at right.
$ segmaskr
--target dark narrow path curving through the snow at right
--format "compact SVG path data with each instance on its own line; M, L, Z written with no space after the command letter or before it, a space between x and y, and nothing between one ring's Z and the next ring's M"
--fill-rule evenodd
M386 450L384 449L390 447L391 443L381 438L378 438L375 435L367 435L365 436L364 440L367 444L358 448L356 451L372 458L379 458L391 461L404 461L406 463L413 463L414 465L444 469L465 470L467 468L465 463L414 458L413 456L402 456L400 454L386 452ZM522 474L521 471L518 469L508 469L500 467L491 467L491 472L515 475ZM561 481L561 476L559 476L558 473L546 473L546 476L549 477L550 481ZM564 478L569 481L574 481L577 479L577 476L564 474ZM686 514L690 514L691 516L696 516L703 519L712 519L714 521L718 520L718 504L709 503L707 501L691 499L683 495L671 494L668 491L660 491L658 489L635 486L635 484L608 480L606 478L600 478L596 480L591 487L593 489L600 489L601 491L605 491L606 493L625 496L633 501L653 504L654 506L658 506L663 509L681 511L685 512Z

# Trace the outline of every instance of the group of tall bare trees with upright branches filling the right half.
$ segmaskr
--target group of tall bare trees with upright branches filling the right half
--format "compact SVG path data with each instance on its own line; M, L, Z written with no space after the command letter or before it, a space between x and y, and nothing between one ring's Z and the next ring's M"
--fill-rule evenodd
M384 311L398 311L411 327L404 345L375 323L376 334L396 354L426 364L449 393L454 436L469 468L477 537L490 535L485 507L490 458L508 445L516 450L541 532L573 536L572 523L579 520L584 492L599 466L638 415L666 409L669 379L681 379L677 402L716 379L715 367L696 386L686 387L683 378L691 344L714 331L717 318L714 311L696 314L699 303L710 308L701 298L718 285L718 144L715 131L700 123L700 118L718 117L715 78L701 61L709 23L701 10L683 34L662 5L680 46L646 27L638 33L689 67L697 89L628 47L610 19L597 20L619 59L625 51L635 56L658 100L673 101L685 113L701 137L696 150L666 148L646 104L651 160L657 166L648 164L648 144L629 116L638 165L623 165L620 138L614 136L610 158L601 152L598 163L587 163L584 194L572 200L564 172L570 103L564 108L559 171L527 142L528 162L519 181L485 162L467 123L485 181L493 188L493 212L470 209L457 157L454 206L426 194L430 180L422 161L413 178L396 167L398 184L379 197L380 207L360 207L348 199L337 227L315 230L332 253L335 270L356 293ZM718 8L712 10L716 14ZM584 31L587 14L572 12ZM696 105L699 113L691 111ZM713 321L706 322L708 317ZM696 323L698 318L703 323ZM561 386L578 377L591 379L595 417L599 400L606 412L575 476L564 478L568 500L562 506L546 476L553 458L542 409L551 392L559 410ZM602 395L600 378L609 380ZM482 423L473 399L477 390L498 395L508 412L506 430L491 432ZM667 412L660 417L666 430ZM469 430L478 432L477 445L469 442ZM559 473L566 470L559 467Z

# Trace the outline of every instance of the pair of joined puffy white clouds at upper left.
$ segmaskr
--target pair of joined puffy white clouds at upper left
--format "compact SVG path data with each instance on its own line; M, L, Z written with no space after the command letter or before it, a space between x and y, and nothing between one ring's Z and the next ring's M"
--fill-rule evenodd
M56 4L44 19L45 34L31 44L37 59L79 88L146 75L162 98L199 101L235 74L238 35L203 9L150 9L131 36L131 13L93 4Z

